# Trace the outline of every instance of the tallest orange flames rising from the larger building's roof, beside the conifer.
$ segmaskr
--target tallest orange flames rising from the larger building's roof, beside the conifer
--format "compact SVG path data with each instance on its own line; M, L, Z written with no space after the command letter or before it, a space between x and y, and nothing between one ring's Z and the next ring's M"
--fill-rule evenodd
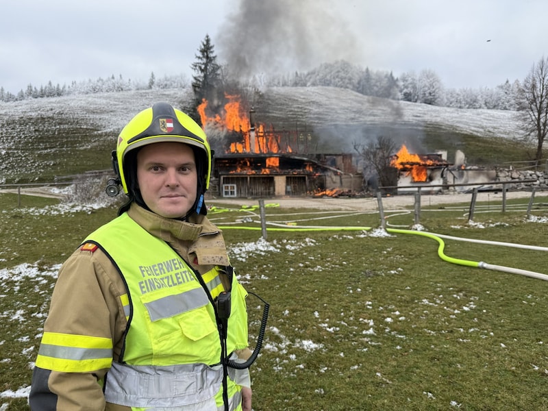
M228 100L224 106L223 114L208 116L208 101L203 99L198 106L197 111L200 115L203 127L208 123L213 123L218 127L242 134L242 141L232 142L228 153L280 153L285 151L291 153L291 147L282 149L280 146L281 136L275 134L271 128L268 132L264 124L259 124L253 128L249 117L243 109L241 98L238 95L225 95Z

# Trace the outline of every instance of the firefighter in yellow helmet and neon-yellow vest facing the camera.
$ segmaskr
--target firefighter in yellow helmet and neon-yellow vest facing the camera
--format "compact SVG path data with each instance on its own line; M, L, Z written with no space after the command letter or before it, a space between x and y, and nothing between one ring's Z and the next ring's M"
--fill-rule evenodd
M249 370L229 366L251 355L247 292L206 217L206 134L156 103L112 158L129 200L60 269L31 409L251 411Z

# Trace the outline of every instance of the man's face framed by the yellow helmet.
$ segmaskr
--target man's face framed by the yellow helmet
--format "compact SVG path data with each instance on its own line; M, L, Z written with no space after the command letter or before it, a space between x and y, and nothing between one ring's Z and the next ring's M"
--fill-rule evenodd
M186 216L196 201L198 174L192 149L156 142L137 153L137 182L145 204L168 219Z

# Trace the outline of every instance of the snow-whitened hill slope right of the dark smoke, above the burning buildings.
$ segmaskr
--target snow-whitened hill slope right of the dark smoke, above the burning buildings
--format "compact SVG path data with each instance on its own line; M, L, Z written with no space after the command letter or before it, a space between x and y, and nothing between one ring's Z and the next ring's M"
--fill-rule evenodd
M517 138L523 134L516 113L505 110L445 108L332 87L271 88L266 93L265 117L273 124L285 119L319 128L398 129L403 138L406 130L420 137L421 129L427 128L478 137Z

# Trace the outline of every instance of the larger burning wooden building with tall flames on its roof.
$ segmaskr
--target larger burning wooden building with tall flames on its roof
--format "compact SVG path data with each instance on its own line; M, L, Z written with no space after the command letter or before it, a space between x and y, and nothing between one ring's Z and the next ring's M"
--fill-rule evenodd
M310 133L277 131L262 123L253 123L253 110L247 116L238 96L226 97L222 114L208 114L205 100L198 108L202 125L223 130L223 144L216 147L214 155L212 194L221 197L279 197L322 192L333 195L347 186L351 191L353 184L361 186L361 179L358 182L353 178L356 171L351 154L311 155Z

